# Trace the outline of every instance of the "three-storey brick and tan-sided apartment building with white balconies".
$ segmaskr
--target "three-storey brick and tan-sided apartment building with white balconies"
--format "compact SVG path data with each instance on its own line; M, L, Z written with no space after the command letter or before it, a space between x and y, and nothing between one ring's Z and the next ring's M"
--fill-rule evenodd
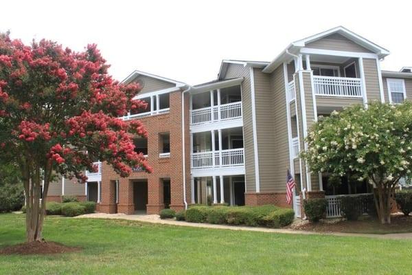
M200 85L135 71L125 83L144 88L137 98L148 109L140 119L147 140L136 140L154 172L120 178L102 164L83 186L102 212L157 213L190 203L293 207L301 199L326 197L328 217L340 214L336 197L371 192L366 183L310 173L299 151L320 115L350 104L412 98L411 67L380 69L389 51L343 27L290 43L271 62L222 61L218 78ZM150 111L149 111L150 110ZM295 175L293 206L286 203L286 170Z

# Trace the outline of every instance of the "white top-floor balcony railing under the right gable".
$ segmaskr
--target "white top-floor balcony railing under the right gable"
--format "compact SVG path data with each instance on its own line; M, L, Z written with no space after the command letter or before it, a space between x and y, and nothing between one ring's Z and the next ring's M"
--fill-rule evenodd
M313 87L317 96L362 97L361 78L313 76Z

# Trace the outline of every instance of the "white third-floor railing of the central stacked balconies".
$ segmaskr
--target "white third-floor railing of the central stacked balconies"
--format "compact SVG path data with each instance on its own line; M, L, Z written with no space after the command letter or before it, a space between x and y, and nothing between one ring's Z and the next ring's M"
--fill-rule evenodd
M190 124L203 124L225 120L242 118L242 102L220 104L213 107L205 107L190 111Z

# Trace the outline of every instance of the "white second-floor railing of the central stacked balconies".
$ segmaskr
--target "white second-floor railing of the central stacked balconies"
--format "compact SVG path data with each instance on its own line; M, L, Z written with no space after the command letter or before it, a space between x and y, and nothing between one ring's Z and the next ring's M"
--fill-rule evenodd
M192 153L192 169L244 165L244 148Z

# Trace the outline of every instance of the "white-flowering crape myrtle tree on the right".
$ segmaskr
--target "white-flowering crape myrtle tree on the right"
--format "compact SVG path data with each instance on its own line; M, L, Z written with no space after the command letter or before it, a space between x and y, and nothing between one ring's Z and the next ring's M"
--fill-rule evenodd
M391 223L391 195L402 177L412 176L411 102L334 111L314 123L306 142L302 157L312 172L367 180L380 222Z

